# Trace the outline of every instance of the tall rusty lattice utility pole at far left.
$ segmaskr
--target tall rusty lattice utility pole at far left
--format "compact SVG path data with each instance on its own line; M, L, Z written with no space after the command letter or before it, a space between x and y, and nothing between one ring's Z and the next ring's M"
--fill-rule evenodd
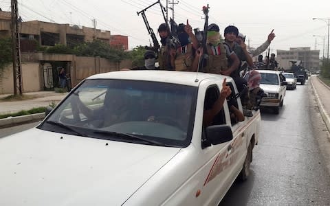
M19 23L17 0L11 0L12 6L12 71L14 77L14 95L22 95L21 50L19 45Z

